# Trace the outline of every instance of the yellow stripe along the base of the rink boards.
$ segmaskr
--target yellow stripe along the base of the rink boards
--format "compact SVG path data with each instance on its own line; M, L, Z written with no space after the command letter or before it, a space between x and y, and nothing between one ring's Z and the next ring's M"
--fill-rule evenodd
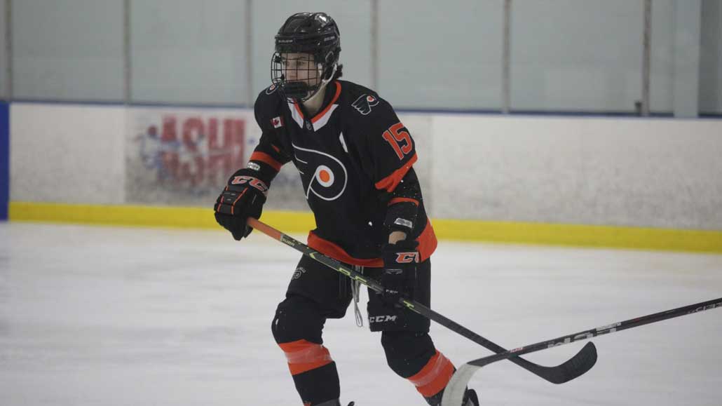
M9 220L220 229L213 211L199 207L10 202ZM284 233L307 233L316 227L310 212L267 210L261 220ZM450 240L722 253L718 230L444 219L432 223L438 238Z

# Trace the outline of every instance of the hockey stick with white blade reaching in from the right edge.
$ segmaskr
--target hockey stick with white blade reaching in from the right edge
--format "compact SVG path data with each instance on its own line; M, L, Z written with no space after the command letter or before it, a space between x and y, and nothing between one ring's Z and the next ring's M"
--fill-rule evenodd
M461 368L458 368L456 373L454 373L451 377L451 381L449 381L446 389L444 390L444 395L441 400L441 406L461 405L461 399L464 397L464 390L466 389L466 385L469 384L471 376L474 375L474 372L479 370L479 368L487 366L490 363L495 363L497 361L507 359L513 360L519 355L534 353L536 351L546 350L547 348L558 347L560 345L569 344L570 342L588 340L601 334L620 332L622 330L631 329L633 327L656 323L657 321L662 321L666 319L673 319L674 317L686 316L687 314L699 313L700 311L710 310L710 308L718 307L722 307L722 298L714 299L712 301L695 303L689 306L673 308L671 310L661 311L655 314L648 314L647 316L637 317L636 319L619 321L618 323L608 324L602 327L596 327L595 329L588 329L583 332L565 335L563 337L555 338L554 340L547 340L537 342L536 344L526 345L524 347L518 347L513 350L508 350L505 353L497 353L496 355L490 355L488 357L471 360L461 366Z

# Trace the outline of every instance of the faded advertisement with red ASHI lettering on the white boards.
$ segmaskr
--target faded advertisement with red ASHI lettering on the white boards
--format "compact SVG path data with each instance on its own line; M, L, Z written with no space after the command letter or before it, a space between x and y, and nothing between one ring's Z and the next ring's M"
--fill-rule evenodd
M261 137L252 111L149 107L130 108L128 114L130 204L212 207ZM308 210L292 164L271 183L265 208Z

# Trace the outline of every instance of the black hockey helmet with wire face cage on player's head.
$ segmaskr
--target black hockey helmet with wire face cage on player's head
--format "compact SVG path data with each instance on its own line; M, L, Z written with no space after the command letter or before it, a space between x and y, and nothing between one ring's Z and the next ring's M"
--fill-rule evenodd
M340 52L339 27L329 14L293 14L276 35L271 81L289 100L308 100L340 73Z

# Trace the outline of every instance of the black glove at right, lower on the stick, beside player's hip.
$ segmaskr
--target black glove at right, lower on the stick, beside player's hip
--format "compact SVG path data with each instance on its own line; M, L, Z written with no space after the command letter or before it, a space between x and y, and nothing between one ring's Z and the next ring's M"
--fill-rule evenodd
M419 262L418 241L401 240L383 246L383 273L381 297L389 305L399 305L400 298L409 298L409 287L416 282L416 265ZM400 306L400 305L399 305Z

